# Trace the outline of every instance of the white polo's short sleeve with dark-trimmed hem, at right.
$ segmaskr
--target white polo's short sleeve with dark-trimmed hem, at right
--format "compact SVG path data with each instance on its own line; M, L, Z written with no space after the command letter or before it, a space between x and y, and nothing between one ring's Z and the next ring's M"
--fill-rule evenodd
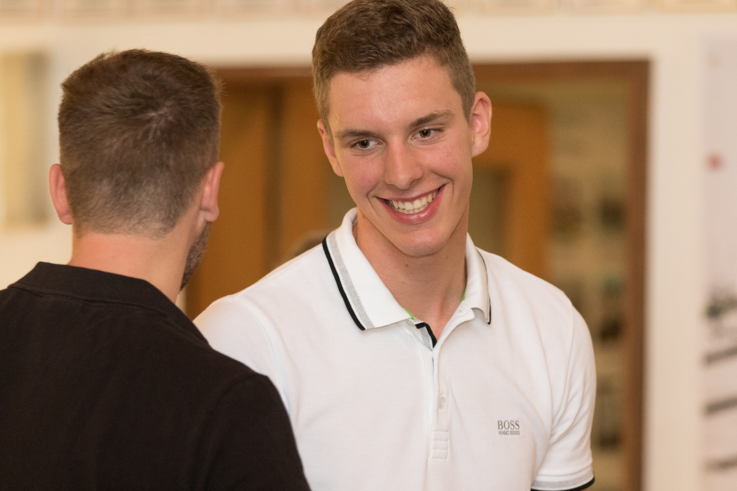
M532 483L532 489L537 491L583 490L593 484L591 424L596 369L586 322L572 310L573 333L565 389L553 418L548 451Z

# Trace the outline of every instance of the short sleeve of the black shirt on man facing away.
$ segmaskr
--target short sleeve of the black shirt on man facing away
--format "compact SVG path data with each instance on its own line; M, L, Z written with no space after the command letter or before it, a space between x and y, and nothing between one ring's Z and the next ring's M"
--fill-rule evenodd
M223 395L203 430L201 490L308 491L287 411L273 384L252 374Z

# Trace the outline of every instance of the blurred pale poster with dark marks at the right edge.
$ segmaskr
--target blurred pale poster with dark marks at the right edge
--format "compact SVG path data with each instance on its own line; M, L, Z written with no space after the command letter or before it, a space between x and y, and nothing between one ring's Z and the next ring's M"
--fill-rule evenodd
M705 56L705 489L737 490L737 38Z

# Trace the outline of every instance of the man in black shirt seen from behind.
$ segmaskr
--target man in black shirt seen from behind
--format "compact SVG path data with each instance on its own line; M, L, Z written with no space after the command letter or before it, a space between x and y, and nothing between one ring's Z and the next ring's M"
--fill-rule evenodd
M49 185L71 261L0 292L0 488L307 490L268 378L173 303L218 214L212 77L130 50L62 88Z

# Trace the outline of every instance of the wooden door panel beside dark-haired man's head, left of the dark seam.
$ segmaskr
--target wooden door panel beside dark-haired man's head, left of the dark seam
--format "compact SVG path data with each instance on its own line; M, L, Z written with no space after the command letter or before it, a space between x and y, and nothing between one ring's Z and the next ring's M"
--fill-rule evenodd
M220 216L207 252L186 289L194 319L210 303L255 283L273 262L273 88L245 85L223 96Z

